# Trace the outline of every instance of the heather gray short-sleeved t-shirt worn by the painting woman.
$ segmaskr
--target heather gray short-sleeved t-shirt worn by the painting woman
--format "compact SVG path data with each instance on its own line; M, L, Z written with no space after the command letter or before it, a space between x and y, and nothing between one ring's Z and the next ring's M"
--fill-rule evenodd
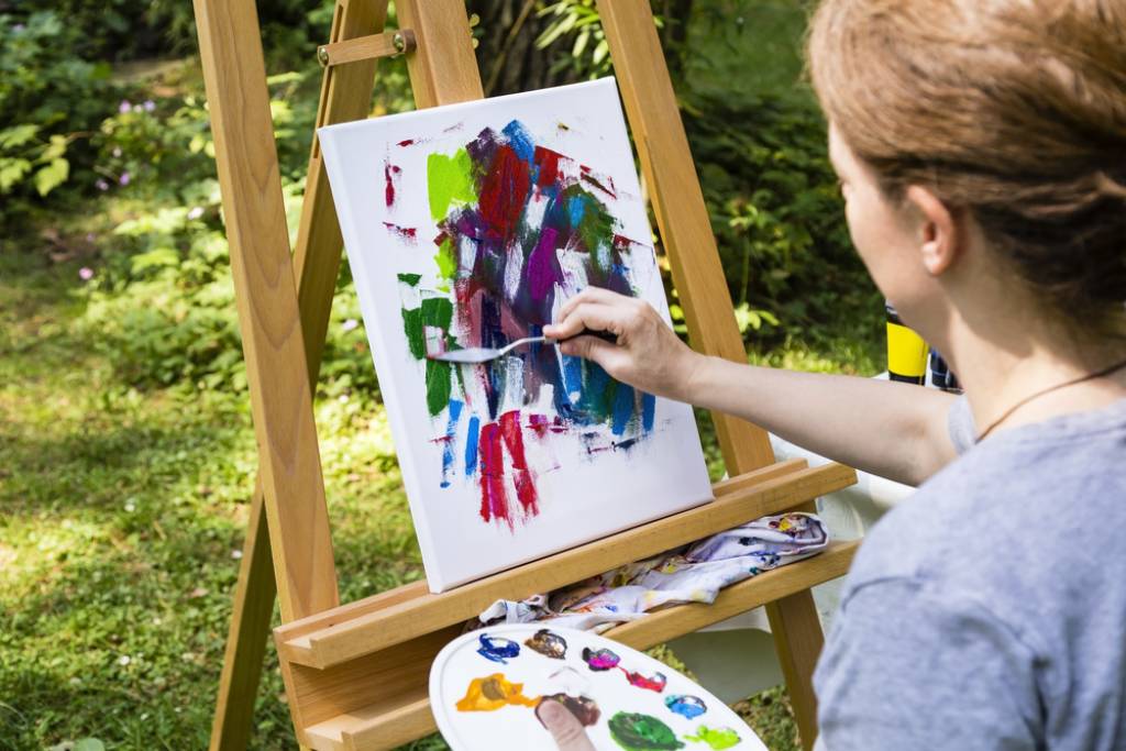
M865 538L814 676L828 751L1126 749L1126 400L972 444Z

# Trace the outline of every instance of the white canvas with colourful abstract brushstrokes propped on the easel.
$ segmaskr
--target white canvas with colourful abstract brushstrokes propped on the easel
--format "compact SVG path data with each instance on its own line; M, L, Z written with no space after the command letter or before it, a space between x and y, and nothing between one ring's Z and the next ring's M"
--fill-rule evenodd
M318 133L431 590L711 500L688 405L551 345L428 357L588 286L669 322L613 79Z

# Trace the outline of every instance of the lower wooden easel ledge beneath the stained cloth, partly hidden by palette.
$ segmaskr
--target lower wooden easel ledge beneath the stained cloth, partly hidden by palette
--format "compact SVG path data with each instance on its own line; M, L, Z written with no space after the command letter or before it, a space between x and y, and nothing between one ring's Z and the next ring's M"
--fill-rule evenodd
M842 576L859 545L831 543L820 555L761 573L724 589L712 605L680 605L606 632L606 636L645 650L676 636L718 623L740 613ZM302 740L316 751L390 749L437 730L427 692L426 665L414 686L328 717L302 728Z

